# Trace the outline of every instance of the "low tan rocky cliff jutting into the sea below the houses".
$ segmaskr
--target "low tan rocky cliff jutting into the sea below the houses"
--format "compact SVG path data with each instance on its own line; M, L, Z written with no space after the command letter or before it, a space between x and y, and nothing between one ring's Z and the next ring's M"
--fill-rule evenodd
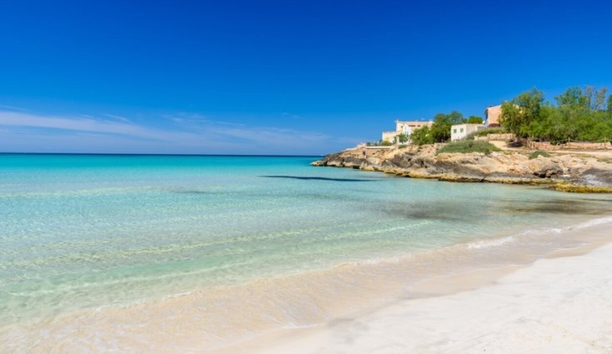
M529 159L526 153L515 151L436 154L437 147L354 148L327 155L312 165L442 181L550 184L567 192L612 192L612 164L594 156L559 154Z

